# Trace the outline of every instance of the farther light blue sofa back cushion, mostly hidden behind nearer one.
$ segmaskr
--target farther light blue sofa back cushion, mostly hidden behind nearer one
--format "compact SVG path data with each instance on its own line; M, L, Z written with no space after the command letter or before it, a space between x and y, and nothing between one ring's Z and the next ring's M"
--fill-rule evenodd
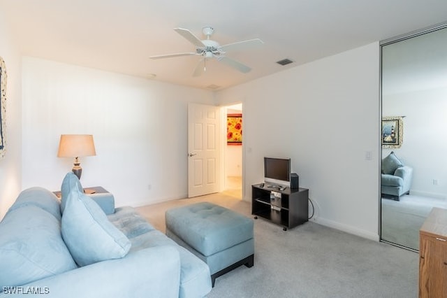
M41 208L51 213L57 220L61 220L61 208L56 194L53 194L50 190L46 190L43 187L30 187L20 192L19 197L17 197L8 212L30 205Z

